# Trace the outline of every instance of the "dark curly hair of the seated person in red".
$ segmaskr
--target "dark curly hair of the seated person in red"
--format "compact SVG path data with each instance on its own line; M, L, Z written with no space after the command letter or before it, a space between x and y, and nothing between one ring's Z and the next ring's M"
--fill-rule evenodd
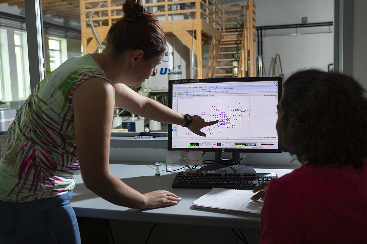
M319 70L296 72L280 101L291 154L300 162L362 166L367 156L367 98L352 77Z

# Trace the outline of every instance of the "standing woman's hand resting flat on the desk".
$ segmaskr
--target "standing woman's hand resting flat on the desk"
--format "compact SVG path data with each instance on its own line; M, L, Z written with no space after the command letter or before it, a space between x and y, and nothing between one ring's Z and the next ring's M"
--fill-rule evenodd
M145 197L144 209L153 209L155 207L164 207L176 205L181 201L181 198L169 191L152 191L143 194Z

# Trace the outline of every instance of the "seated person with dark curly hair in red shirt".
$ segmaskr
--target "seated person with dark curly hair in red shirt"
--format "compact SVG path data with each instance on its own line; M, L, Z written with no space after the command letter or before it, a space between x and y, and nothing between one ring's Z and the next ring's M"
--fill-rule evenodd
M302 166L254 189L266 187L261 243L366 243L366 91L346 75L301 71L278 113L279 139Z

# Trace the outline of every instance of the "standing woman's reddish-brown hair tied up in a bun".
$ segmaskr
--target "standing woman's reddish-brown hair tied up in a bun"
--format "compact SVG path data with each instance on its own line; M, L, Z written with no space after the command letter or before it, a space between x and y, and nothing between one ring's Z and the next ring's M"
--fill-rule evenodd
M126 0L122 8L124 16L131 18L118 19L108 31L106 46L113 55L141 49L143 58L150 60L165 52L166 35L155 15L142 7L141 0Z

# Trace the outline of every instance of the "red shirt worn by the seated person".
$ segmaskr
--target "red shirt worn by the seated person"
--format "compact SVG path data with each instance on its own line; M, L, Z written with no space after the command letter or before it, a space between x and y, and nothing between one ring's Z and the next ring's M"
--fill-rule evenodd
M301 168L273 179L261 212L261 244L367 243L367 164Z

